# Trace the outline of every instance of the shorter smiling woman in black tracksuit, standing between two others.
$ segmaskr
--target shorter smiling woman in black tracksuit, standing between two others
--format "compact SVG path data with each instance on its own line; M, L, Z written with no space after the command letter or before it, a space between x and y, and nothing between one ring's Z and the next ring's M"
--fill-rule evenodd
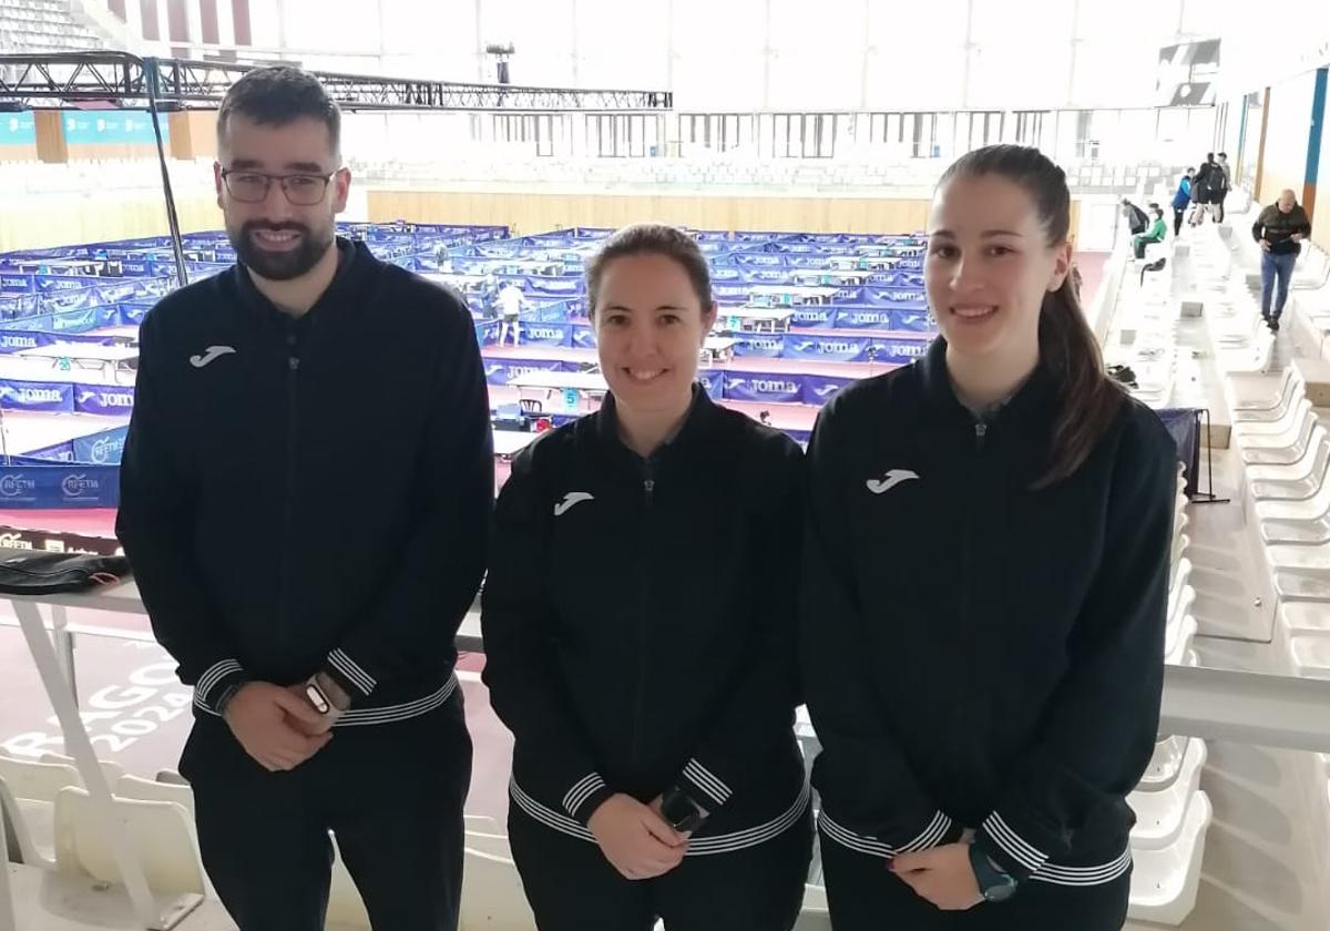
M513 859L541 931L786 931L802 452L696 384L717 309L685 233L620 230L587 294L609 395L513 460L481 601Z

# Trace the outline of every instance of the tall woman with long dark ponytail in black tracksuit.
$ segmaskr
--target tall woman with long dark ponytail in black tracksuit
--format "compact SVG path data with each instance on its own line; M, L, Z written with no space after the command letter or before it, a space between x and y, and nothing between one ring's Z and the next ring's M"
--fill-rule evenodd
M1177 451L1104 371L1069 221L1037 149L962 157L928 223L942 335L813 432L803 688L837 931L1127 916Z

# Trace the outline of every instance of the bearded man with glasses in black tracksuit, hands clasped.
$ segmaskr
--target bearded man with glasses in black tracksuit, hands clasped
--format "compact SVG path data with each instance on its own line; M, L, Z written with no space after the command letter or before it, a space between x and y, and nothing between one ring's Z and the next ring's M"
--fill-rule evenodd
M489 404L455 293L335 235L340 116L294 68L217 116L235 267L141 331L120 539L194 688L181 773L242 931L315 931L331 830L375 927L456 927Z

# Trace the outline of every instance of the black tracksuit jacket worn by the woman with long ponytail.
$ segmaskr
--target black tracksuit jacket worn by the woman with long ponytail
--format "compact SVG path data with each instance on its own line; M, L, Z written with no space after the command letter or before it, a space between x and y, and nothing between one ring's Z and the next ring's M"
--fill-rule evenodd
M1176 446L1125 400L1041 491L1041 368L986 422L936 339L823 408L809 447L803 685L822 831L890 857L963 829L1019 879L1129 867L1158 726Z

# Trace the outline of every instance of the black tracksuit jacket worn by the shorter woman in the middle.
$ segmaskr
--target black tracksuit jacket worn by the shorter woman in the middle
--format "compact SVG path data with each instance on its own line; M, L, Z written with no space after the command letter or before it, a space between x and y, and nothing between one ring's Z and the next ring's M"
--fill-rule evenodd
M692 853L803 813L795 584L802 454L694 392L644 460L614 400L532 443L499 495L484 681L516 738L513 803L591 839L596 807L670 785L712 811Z

